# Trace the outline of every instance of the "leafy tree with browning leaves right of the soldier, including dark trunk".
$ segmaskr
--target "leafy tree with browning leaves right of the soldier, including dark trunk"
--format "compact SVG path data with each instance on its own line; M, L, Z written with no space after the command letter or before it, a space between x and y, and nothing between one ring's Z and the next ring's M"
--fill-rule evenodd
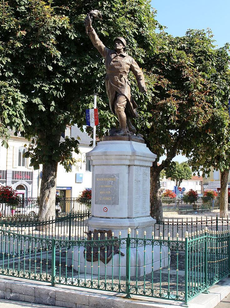
M193 149L199 151L203 140L211 144L213 136L222 138L228 125L223 101L230 85L228 54L215 48L209 30L189 30L184 37L175 38L161 32L159 42L145 58L152 97L146 100L137 123L158 160L166 155L159 166L156 160L150 171L151 215L157 219L162 218L161 170L172 167L177 154L188 157Z

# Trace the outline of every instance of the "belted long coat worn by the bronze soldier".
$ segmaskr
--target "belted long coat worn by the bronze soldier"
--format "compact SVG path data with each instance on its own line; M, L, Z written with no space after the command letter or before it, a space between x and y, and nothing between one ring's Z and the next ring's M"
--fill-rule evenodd
M130 82L128 74L130 70L136 77L139 87L145 86L144 75L139 68L137 62L130 57L126 52L117 54L115 50L111 50L100 41L95 30L88 32L93 45L100 52L101 56L105 58L106 76L105 87L110 102L110 109L113 113L114 103L116 100L116 92L125 95L127 104L125 106L125 113L131 117L136 118L138 113L136 111L137 104L131 96Z

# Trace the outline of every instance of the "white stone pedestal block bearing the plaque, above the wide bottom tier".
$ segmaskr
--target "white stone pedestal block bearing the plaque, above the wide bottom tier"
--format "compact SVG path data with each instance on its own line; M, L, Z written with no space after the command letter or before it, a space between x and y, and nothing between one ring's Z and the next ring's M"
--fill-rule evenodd
M92 217L89 230L112 230L118 237L152 236L155 220L149 215L150 166L156 159L146 144L100 141L87 154L92 164Z

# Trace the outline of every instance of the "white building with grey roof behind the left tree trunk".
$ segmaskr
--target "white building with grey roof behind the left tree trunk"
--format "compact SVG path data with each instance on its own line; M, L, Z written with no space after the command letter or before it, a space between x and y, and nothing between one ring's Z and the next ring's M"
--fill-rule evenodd
M72 166L71 172L66 172L64 167L58 164L56 189L60 197L78 197L85 188L91 188L91 165L86 160L86 153L91 151L92 139L81 132L76 126L67 127L66 134L74 138L80 138L79 154L74 151L72 155L77 160L77 165ZM24 158L29 141L20 134L14 136L10 131L9 147L0 146L0 185L12 186L17 193L24 198L37 198L40 194L42 179L42 165L39 170L30 167L30 159ZM62 138L61 141L64 139ZM0 139L0 142L2 140Z

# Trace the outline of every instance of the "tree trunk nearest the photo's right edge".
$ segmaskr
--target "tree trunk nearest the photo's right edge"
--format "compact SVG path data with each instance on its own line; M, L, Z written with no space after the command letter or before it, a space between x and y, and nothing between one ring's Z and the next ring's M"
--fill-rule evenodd
M220 217L228 217L228 174L229 169L220 172Z

